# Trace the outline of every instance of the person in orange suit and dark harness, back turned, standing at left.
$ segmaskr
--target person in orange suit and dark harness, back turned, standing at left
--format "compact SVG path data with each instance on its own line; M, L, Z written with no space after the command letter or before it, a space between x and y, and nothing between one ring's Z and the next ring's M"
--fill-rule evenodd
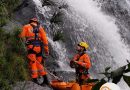
M44 79L42 84L49 84L47 72L42 65L42 48L44 48L45 54L47 56L49 55L48 40L46 33L43 27L40 26L37 18L32 18L29 21L29 24L24 25L19 36L25 38L25 44L28 51L27 58L29 60L29 68L33 82L38 84L37 78L40 75L43 76Z

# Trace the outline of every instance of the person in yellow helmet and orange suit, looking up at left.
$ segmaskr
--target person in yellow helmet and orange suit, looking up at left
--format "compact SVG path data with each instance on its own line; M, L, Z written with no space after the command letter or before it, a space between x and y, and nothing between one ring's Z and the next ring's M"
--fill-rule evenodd
M86 54L88 47L86 42L80 42L76 47L77 54L70 61L70 66L76 70L76 82L80 85L90 78L88 70L91 67L91 62Z

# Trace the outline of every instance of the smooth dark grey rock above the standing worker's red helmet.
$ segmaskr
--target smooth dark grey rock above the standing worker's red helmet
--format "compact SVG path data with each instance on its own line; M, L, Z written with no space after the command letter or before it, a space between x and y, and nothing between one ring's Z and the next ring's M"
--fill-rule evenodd
M28 23L28 20L36 16L35 3L33 0L21 0L22 3L17 7L14 18L21 24Z

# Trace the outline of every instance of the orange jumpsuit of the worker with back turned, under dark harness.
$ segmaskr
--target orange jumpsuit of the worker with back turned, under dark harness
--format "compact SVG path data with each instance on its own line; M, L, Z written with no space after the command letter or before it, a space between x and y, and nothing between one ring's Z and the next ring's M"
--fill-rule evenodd
M31 23L34 26L37 26L36 23ZM23 26L22 32L19 35L21 38L25 37L26 42L35 40L35 33L33 32L33 27L31 24L27 24ZM38 32L38 39L43 43L44 46L44 52L48 53L48 40L46 37L46 33L44 29L39 26L39 32ZM38 74L41 76L46 75L46 71L41 64L42 62L42 47L41 46L35 46L33 44L27 44L26 45L28 50L27 58L29 59L29 68L31 69L31 77L37 78Z

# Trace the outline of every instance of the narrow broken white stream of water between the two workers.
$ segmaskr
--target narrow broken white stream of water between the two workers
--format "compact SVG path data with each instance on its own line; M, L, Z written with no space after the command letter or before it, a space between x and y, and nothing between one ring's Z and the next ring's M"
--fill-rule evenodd
M42 2L40 0L33 0L33 1L36 4L37 13L43 14L45 18L48 17L48 16L45 16L45 15L48 15L45 12L46 12L46 10L50 10L50 9L47 7L42 7ZM46 22L48 22L48 21L46 21ZM47 23L47 24L49 27L50 23ZM47 30L49 30L49 29L50 28L48 28ZM68 60L68 58L67 58L68 56L67 56L65 45L62 42L54 42L52 40L52 38L50 38L49 36L48 36L48 41L51 44L51 46L53 47L54 51L58 54L58 60L56 60L56 61L60 68L58 68L56 71L66 71L66 72L73 71L73 69L71 69L68 66L68 61L66 61L66 60Z

